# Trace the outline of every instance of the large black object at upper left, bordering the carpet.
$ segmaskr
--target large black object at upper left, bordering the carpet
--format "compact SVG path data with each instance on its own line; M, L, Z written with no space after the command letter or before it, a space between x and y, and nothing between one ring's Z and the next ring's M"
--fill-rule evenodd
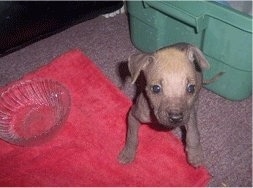
M0 56L122 6L123 1L0 2Z

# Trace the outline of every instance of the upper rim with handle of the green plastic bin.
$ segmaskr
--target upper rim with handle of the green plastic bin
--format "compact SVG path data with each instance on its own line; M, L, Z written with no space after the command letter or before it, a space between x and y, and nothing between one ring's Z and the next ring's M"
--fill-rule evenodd
M252 16L213 1L143 1L166 15L193 26L196 32L206 29L208 18L220 20L240 30L252 33ZM189 6L191 5L191 6Z

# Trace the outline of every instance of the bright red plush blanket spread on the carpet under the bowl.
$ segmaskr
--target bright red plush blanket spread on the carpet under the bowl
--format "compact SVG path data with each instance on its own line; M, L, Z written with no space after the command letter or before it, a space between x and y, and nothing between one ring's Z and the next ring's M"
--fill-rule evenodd
M136 160L117 156L131 101L79 50L22 79L51 78L71 93L67 122L50 140L19 147L0 140L1 186L206 186L207 170L186 162L180 140L149 126L140 129Z

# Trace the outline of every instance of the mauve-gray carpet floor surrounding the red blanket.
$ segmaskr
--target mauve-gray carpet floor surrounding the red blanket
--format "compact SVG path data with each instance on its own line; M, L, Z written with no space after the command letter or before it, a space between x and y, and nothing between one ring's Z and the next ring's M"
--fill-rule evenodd
M137 52L126 15L100 16L0 58L0 86L73 48L81 49L118 87L122 86L119 67ZM122 91L133 98L135 88L126 84ZM198 121L205 164L212 175L209 186L251 187L252 98L233 102L203 89Z

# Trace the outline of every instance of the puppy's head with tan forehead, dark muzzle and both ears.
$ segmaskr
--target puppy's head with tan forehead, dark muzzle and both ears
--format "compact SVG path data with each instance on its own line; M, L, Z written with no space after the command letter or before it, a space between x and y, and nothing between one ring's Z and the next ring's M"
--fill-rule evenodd
M132 83L141 71L146 95L159 123L175 127L189 120L202 86L202 70L209 64L195 46L178 43L154 54L134 54L128 59Z

